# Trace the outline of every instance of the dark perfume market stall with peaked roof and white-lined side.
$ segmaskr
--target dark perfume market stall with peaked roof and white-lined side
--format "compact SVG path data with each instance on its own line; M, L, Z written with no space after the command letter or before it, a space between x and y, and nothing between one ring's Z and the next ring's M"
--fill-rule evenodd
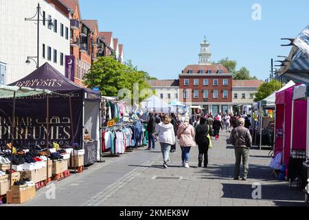
M31 87L35 89L49 89L58 94L68 94L70 105L62 96L52 96L49 100L50 109L50 139L49 142L58 144L77 143L85 151L84 164L92 164L100 160L100 94L96 91L80 87L65 78L54 67L45 63L34 72L11 85ZM3 112L10 111L1 101ZM34 106L36 108L34 108ZM18 107L18 108L17 108ZM19 124L19 129L27 129L27 133L19 135L19 142L25 144L46 144L44 138L45 101L42 98L27 98L16 100L16 116L26 118L28 124ZM31 138L30 138L31 137ZM84 137L87 137L86 139ZM5 141L3 138L3 141Z

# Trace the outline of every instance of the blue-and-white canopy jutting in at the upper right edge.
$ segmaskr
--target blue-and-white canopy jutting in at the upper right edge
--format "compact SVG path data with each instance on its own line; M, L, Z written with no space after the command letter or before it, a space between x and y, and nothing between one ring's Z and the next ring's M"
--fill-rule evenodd
M309 84L309 25L293 41L284 66L279 70L281 78Z

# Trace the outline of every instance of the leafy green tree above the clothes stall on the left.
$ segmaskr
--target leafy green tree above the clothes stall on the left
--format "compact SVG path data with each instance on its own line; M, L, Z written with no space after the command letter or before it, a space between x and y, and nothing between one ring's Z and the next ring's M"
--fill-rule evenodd
M131 61L127 65L123 65L115 61L113 56L102 56L93 63L93 86L100 88L102 96L118 96L120 89L129 89L131 96L133 96L135 83L138 84L139 91L150 89L144 73L139 71L137 67L133 67ZM91 71L84 76L84 84L91 87ZM145 97L141 94L139 100Z

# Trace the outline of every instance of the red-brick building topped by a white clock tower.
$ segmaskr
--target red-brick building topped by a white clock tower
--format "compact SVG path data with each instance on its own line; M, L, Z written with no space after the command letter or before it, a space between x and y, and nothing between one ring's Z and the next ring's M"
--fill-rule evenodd
M209 42L204 39L198 65L187 65L179 74L180 101L214 115L231 112L232 74L223 65L211 64Z

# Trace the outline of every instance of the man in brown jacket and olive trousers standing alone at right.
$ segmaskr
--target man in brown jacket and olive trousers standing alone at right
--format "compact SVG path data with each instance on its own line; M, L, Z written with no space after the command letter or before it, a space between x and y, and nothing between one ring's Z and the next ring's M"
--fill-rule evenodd
M238 119L238 124L235 129L231 131L230 140L235 147L236 163L234 168L234 179L240 179L240 162L242 160L243 172L242 180L247 180L249 171L249 149L252 144L252 137L249 129L244 127L244 118Z

